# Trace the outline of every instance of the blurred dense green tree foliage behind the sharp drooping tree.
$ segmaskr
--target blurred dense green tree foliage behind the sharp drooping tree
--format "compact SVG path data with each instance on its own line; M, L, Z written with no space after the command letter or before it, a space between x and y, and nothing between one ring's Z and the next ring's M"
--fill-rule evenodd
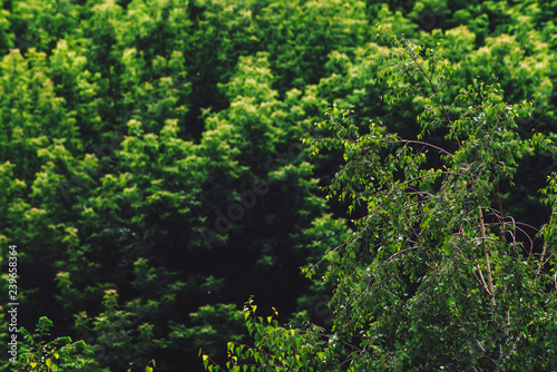
M317 187L341 151L310 157L300 138L332 104L358 123L381 117L388 133L419 133L419 97L380 99L377 72L393 47L377 38L378 21L459 67L448 96L473 78L499 84L506 101L532 101L525 128L556 131L557 2L0 8L1 304L17 244L19 322L32 330L46 315L53 335L85 340L96 371L152 359L160 371L199 371L199 347L225 356L227 341L250 340L241 310L251 295L281 323L330 325L330 287L299 267L353 225ZM518 169L501 198L539 227L550 211L532 195L551 155L527 150Z

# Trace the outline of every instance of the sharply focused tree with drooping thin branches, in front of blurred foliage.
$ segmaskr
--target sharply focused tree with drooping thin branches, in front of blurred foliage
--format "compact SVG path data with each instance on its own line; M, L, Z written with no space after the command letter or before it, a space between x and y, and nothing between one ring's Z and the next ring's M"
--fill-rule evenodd
M250 302L255 343L228 343L227 370L557 369L556 222L535 231L501 203L519 159L555 156L555 146L520 137L532 131L517 124L531 104L506 104L498 86L478 80L451 96L456 69L434 49L382 38L393 47L378 74L389 86L382 98L393 105L412 95L423 109L419 135L400 138L375 121L363 128L334 107L319 124L324 135L304 140L315 154L343 150L328 197L363 215L322 260L334 288L332 326L280 326ZM553 214L556 192L551 175L541 194Z

